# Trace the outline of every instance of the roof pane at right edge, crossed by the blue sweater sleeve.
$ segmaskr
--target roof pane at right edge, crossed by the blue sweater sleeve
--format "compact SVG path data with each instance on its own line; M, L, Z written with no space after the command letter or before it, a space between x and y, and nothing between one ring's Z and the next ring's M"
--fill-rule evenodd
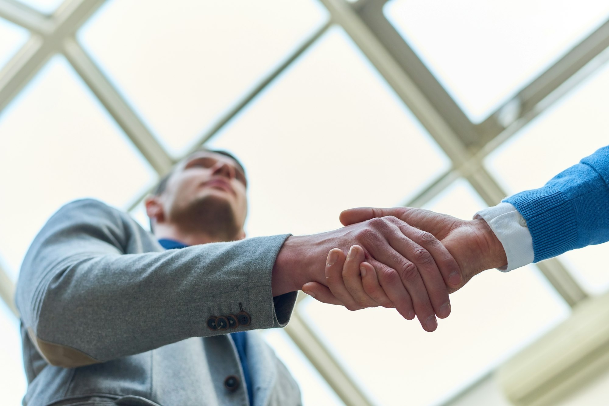
M591 62L591 63L594 63ZM560 171L609 143L609 64L521 129L485 160L509 194L543 186ZM588 291L609 288L609 244L567 252L559 258L569 265Z

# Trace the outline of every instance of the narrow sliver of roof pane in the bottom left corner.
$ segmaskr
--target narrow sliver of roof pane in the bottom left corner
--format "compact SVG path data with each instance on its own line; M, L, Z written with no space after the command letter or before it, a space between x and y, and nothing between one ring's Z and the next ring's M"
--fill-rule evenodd
M0 396L3 405L20 405L26 394L26 374L21 359L19 320L0 300Z

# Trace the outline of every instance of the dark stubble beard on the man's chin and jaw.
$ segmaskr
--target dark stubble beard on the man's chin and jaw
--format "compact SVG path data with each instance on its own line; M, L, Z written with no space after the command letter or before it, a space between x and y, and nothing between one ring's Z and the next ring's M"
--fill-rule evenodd
M241 225L233 207L217 196L203 196L171 213L172 221L190 233L205 233L214 241L234 241Z

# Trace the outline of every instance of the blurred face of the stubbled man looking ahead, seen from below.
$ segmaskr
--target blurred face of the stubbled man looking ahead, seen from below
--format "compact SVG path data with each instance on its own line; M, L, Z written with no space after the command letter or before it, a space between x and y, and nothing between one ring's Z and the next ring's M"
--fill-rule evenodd
M246 186L245 174L233 159L198 151L178 163L163 193L155 196L163 210L157 221L199 227L223 241L243 238Z

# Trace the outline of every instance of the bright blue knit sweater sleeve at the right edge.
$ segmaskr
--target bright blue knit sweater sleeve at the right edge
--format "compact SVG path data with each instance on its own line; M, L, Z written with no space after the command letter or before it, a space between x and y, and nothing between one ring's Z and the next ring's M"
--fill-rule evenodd
M609 241L609 146L557 174L544 187L503 201L526 220L534 262Z

